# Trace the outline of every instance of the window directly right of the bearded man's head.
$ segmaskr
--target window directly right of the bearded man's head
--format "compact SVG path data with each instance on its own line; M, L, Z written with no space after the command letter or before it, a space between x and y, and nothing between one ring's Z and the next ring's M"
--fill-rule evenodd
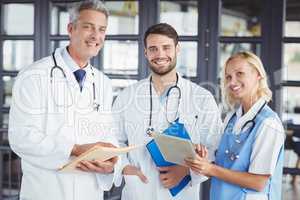
M198 2L160 1L160 22L168 23L179 35L177 70L186 77L197 76ZM182 41L185 38L185 41ZM186 41L188 40L188 41Z

